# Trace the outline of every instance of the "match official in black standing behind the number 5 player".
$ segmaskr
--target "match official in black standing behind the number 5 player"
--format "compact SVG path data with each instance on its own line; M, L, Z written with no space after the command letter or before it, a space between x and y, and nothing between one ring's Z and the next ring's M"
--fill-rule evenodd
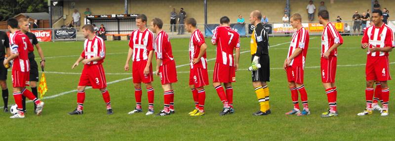
M29 32L29 21L26 18L21 18L19 19L19 27L21 29L21 32L26 34L30 42L36 46L37 52L39 52L41 61L40 61L40 66L41 69L44 69L45 66L45 59L44 59L44 54L42 53L42 50L39 45L39 41L37 40L36 35L33 33ZM28 48L29 51L29 63L30 63L30 88L32 88L32 93L38 97L38 92L37 92L37 82L39 81L39 67L37 66L37 62L35 60L34 56L34 48ZM22 97L22 105L23 105L23 111L26 112L26 97ZM36 112L36 105L34 105L34 112Z

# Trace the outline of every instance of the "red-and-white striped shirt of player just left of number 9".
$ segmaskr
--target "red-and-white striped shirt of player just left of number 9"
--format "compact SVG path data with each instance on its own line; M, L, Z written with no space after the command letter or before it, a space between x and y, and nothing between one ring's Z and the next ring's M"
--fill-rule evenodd
M162 64L160 65L174 61L169 36L164 31L160 31L155 39L155 53L157 54L157 59L162 59Z

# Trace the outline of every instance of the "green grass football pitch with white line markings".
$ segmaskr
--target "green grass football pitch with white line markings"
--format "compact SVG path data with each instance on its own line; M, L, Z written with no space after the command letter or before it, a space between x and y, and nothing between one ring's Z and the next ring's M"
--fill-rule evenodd
M99 90L87 89L83 115L68 115L77 106L76 88L82 64L72 70L71 66L82 51L83 42L41 42L46 57L46 78L48 92L41 116L33 114L33 103L27 104L25 119L9 119L10 113L0 113L1 140L388 140L394 139L395 118L391 96L390 115L358 117L356 113L365 107L365 68L366 50L360 49L361 36L344 36L344 44L338 49L339 117L321 118L320 114L328 107L324 88L321 84L319 59L319 36L311 36L305 68L305 86L309 97L311 115L305 117L286 116L292 109L286 73L282 65L288 52L291 37L270 37L271 82L270 104L272 114L252 116L259 109L251 84L249 38L241 38L239 70L234 87L235 113L219 116L222 104L214 88L206 90L206 115L190 117L187 113L194 108L192 93L188 87L189 39L171 39L173 54L178 67L178 82L175 90L176 113L167 117L146 116L145 112L128 115L135 106L131 71L125 72L127 41L106 41L107 56L104 62L108 90L114 115L106 114L106 106ZM215 58L215 47L210 39L207 59ZM35 51L35 53L37 53ZM390 55L391 73L395 70L395 57ZM36 54L36 57L38 55ZM38 61L40 59L37 59ZM214 60L208 62L211 84ZM153 61L155 66L155 61ZM131 65L131 64L130 64ZM155 68L155 67L154 67ZM12 88L9 104L14 104ZM389 82L394 91L394 83ZM159 77L154 78L155 111L163 108L163 90ZM143 87L143 110L148 107L146 90Z

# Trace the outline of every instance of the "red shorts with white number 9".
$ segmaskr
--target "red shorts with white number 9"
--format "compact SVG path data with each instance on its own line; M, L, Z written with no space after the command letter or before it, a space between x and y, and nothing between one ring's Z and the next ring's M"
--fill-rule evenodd
M207 69L197 68L191 69L189 73L189 85L195 85L195 88L208 85Z

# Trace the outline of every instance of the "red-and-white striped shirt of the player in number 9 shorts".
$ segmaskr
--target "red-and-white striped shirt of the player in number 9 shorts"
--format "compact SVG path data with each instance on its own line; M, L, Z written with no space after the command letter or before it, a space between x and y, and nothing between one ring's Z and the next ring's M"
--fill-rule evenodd
M205 43L204 36L200 30L196 30L192 33L189 39L189 60L191 69L194 67L207 69L207 56L206 53L200 58L200 61L194 65L193 60L199 56L200 46Z

